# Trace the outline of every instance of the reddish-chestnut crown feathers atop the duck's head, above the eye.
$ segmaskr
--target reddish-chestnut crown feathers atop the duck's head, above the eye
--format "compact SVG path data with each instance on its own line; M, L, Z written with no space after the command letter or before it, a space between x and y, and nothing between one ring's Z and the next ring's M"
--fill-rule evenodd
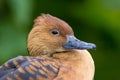
M34 27L43 25L47 28L59 29L62 35L73 34L72 28L65 21L49 14L42 14L34 20Z

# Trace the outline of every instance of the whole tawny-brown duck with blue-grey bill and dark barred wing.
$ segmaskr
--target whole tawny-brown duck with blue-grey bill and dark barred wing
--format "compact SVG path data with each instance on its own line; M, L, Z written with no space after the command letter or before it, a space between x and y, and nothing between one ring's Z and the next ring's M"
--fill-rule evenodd
M74 36L65 21L50 14L34 20L27 39L29 56L12 58L0 66L0 80L93 80L96 49Z

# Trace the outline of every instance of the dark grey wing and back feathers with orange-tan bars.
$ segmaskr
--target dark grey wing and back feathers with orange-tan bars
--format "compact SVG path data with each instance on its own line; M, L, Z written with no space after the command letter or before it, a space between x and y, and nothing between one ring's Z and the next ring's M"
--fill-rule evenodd
M0 67L0 80L53 80L59 68L55 59L19 56Z

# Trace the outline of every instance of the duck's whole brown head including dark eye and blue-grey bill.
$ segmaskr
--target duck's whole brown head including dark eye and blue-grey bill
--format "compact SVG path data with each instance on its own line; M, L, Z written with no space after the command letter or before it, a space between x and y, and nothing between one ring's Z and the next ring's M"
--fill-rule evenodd
M73 49L95 49L96 45L77 39L72 28L63 20L42 14L34 21L27 47L32 56L50 56Z

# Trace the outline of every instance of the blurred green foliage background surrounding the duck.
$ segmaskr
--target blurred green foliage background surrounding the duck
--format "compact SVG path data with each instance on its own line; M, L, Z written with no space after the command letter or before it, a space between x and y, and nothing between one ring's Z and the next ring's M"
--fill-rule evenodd
M120 0L0 0L0 65L28 55L33 20L49 13L68 22L77 38L93 42L95 80L120 80Z

